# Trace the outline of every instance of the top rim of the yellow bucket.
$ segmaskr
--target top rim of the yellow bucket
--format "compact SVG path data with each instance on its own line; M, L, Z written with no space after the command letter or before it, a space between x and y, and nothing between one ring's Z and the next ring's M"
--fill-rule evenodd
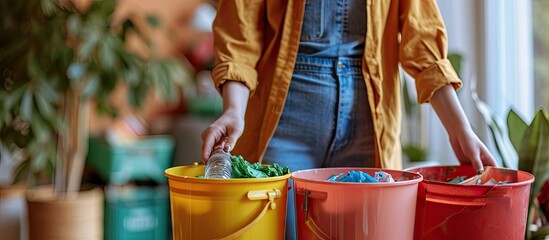
M192 181L195 183L227 183L227 184L242 184L242 183L251 183L251 182L274 182L274 181L280 181L280 180L286 180L290 178L291 173L277 176L277 177L267 177L267 178L230 178L230 179L224 179L224 178L199 178L195 176L186 176L186 175L176 175L174 174L174 171L178 169L183 168L203 168L204 165L188 165L188 166L177 166L177 167L171 167L166 170L164 170L164 176L166 176L169 180L179 180L179 181Z

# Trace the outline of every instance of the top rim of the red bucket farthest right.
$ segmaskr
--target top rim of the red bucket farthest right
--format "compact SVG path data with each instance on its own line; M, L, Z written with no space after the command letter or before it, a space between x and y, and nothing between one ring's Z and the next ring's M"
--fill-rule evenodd
M444 168L444 167L463 167L463 166L464 165L414 167L414 168L407 168L404 171L420 174L419 172L415 172L414 170L419 171L420 169L424 169L424 168ZM468 166L468 165L465 165L465 166ZM426 178L423 178L423 182L427 183L427 184L441 185L441 186L467 186L467 187L473 187L473 188L494 188L494 187L506 188L506 187L519 187L519 186L524 186L524 185L530 185L536 179L536 177L533 174L531 174L527 171L523 171L523 170L519 170L519 169L512 169L512 168L502 168L502 167L493 167L493 168L517 171L517 172L520 172L521 174L524 174L524 175L528 176L529 179L524 180L524 181L520 181L520 182L506 183L506 184L501 184L501 185L462 185L462 184L458 184L458 183L433 181L433 180L429 180L429 179L426 179ZM422 175L422 174L420 174L420 175Z

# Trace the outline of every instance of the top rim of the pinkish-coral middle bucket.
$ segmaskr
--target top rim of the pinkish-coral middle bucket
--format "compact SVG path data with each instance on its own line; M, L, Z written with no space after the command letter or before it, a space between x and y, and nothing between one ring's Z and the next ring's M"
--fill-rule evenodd
M409 180L403 180L398 182L365 182L365 183L359 183L359 182L328 182L326 180L316 180L316 179L308 179L308 178L302 178L297 177L295 174L303 173L303 172L310 172L310 171L328 171L328 170L342 170L342 171L349 171L349 170L358 170L358 171L384 171L384 172L400 172L400 173L407 173L417 176L417 178L409 179ZM410 172L410 171L404 171L404 170L393 170L393 169L381 169L381 168L366 168L366 167L331 167L331 168L312 168L312 169L305 169L305 170L299 170L292 172L291 178L294 181L302 181L302 182L309 182L309 183L321 183L321 184L327 184L327 185L342 185L342 186L368 186L368 187L396 187L396 186L405 186L405 185L412 185L412 184L418 184L421 181L423 181L423 176L418 173Z

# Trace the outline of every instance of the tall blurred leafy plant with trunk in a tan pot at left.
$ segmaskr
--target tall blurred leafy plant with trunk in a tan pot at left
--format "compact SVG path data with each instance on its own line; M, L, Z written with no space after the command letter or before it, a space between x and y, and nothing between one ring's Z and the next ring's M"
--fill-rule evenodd
M4 153L21 156L17 181L51 183L54 189L27 194L30 239L59 239L60 233L67 239L102 238L102 193L80 191L90 111L116 114L107 99L118 84L128 86L129 101L139 106L150 89L173 98L185 81L177 59L138 55L127 48L131 33L151 43L133 19L112 21L116 4L0 2L0 144ZM160 24L154 16L145 22ZM91 101L97 109L90 109ZM36 217L34 206L50 215ZM76 215L78 210L89 211ZM65 216L69 218L63 220ZM92 222L77 223L82 220L77 216ZM78 236L67 236L70 232Z

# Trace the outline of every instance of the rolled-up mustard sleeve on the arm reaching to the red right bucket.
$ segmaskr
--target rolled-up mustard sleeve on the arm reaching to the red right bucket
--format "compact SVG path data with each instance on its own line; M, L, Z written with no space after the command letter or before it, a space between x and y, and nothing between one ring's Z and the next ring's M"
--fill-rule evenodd
M400 49L402 68L415 79L419 103L429 102L440 88L461 80L447 59L446 27L435 0L401 0Z

